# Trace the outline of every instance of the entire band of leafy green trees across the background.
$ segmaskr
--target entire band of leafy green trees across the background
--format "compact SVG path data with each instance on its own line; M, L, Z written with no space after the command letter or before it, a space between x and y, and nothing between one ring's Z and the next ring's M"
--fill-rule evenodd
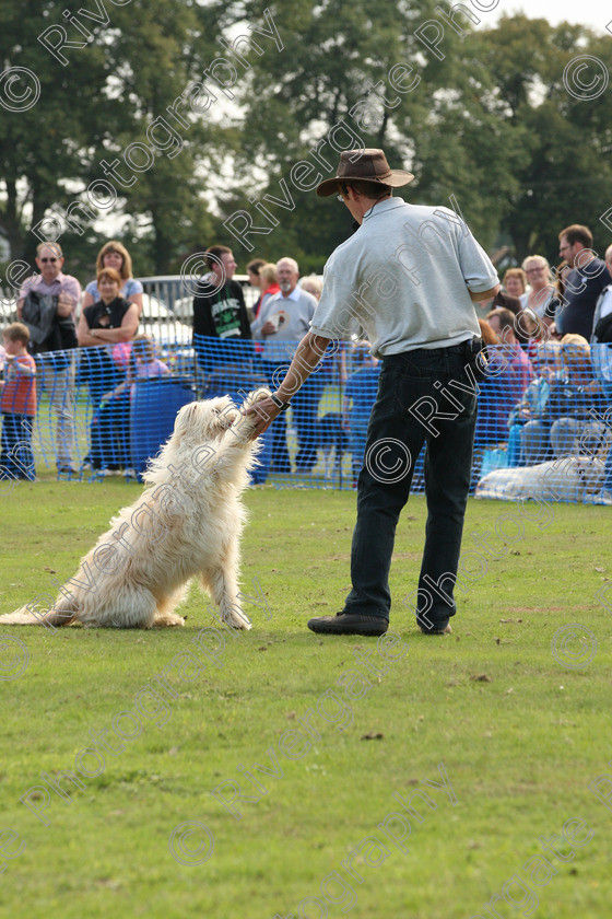
M447 205L454 196L490 249L510 243L515 259L538 251L554 261L558 230L578 222L591 226L602 252L611 95L574 97L564 71L578 55L598 58L610 71L609 42L580 25L551 26L522 14L506 15L493 28L486 13L475 22L459 10L460 34L445 23L436 53L420 40L420 27L442 22L437 5L108 3L107 25L80 16L93 40L66 49L63 67L38 36L63 25L70 38L80 37L63 18L66 4L5 0L0 60L4 68L32 69L42 85L33 108L3 112L0 120L0 233L11 257L32 258L37 240L28 229L54 205L63 209L82 197L89 183L105 177L102 161L117 159L119 172L138 181L117 183L110 219L114 225L121 220L115 235L138 252L140 274L177 270L186 255L213 241L232 243L240 263L291 252L303 271L320 271L350 221L342 208L292 184L292 167L306 160L331 175L348 144L384 147L392 165L414 172L416 181L401 193L409 201ZM261 34L270 22L281 50ZM236 62L223 43L238 35L250 35L252 44L250 50L240 45L246 65L237 68L234 97L209 78L214 105L186 114L184 104L178 117L169 115L193 82L205 83L215 58ZM150 168L130 170L123 153L130 144L149 144L146 131L160 117L180 152L161 150ZM274 211L279 225L254 236L257 252L250 252L224 221L242 209L257 224L255 203L278 195L281 179L293 206ZM84 271L104 224L94 232L89 214L75 220L66 247Z

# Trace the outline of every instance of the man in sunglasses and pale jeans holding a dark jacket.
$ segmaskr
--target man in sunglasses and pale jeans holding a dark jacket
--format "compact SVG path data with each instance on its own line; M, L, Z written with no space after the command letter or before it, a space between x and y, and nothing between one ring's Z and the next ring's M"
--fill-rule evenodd
M58 472L75 474L74 450L74 357L76 328L74 313L81 300L81 284L64 275L59 243L36 247L39 274L27 278L17 298L17 318L30 329L30 351L36 357L38 402L46 392L56 427Z

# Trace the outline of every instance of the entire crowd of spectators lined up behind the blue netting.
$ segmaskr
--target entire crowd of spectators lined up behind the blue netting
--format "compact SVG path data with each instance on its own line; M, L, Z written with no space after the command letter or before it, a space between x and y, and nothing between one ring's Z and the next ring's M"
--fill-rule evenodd
M596 410L605 409L612 392L607 347L612 342L612 246L600 259L589 230L574 224L560 233L560 258L553 270L543 256L528 256L520 267L506 270L503 289L481 304L482 335L494 347L490 373L480 383L476 455L508 444L508 465L531 466L578 453L585 438L602 462L610 453L604 412ZM247 310L234 280L232 249L211 246L205 259L209 272L193 298L199 396L228 393L242 400L254 385L275 388L309 329L321 279L301 278L291 257L275 264L255 258L246 269L259 295ZM129 252L116 241L102 247L96 278L86 284L82 302L79 281L62 272L57 243L40 243L36 265L38 274L19 294L20 322L4 329L1 474L34 477L32 420L45 392L55 416L58 472L76 473L78 385L87 387L92 405L84 467L130 474L129 412L137 381L169 370L153 341L138 336L143 289L133 278ZM357 335L334 345L293 399L289 419L281 415L266 432L254 481L264 481L270 473L309 475L320 468L322 453L327 468L331 443L337 470L342 468L338 454L345 450L351 455L348 474L356 478L380 368ZM75 361L71 351L78 346ZM336 404L333 396L322 398L330 384L340 385L340 404L338 397ZM605 482L599 498L612 503Z

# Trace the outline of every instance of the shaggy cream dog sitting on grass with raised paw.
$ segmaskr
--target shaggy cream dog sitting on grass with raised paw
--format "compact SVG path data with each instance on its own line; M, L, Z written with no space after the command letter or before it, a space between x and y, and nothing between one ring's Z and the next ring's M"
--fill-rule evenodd
M267 389L243 405L260 402ZM228 396L186 405L144 474L148 488L110 522L51 609L33 604L0 616L2 625L151 628L183 626L174 613L198 577L221 618L250 629L238 596L238 554L246 520L240 492L259 449L252 419Z

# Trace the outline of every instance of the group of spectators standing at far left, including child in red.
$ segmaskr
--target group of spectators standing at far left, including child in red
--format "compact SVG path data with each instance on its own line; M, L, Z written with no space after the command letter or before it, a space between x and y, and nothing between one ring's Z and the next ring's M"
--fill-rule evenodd
M113 431L119 424L116 418L105 417L104 396L126 377L131 341L142 311L142 284L132 277L130 255L117 241L106 243L99 251L96 277L87 283L83 296L79 280L62 271L63 263L59 243L43 242L37 246L38 271L24 281L17 294L20 322L4 329L5 336L15 335L16 328L25 354L34 359L33 373L26 381L24 361L11 361L13 346L5 346L7 354L1 361L4 389L0 461L0 475L4 477L34 478L34 461L26 463L23 456L30 457L32 418L40 408L43 394L47 395L48 411L55 418L55 426L49 427L54 427L52 451L58 473L69 476L79 473L74 454L75 398L80 385L87 386L93 406L90 454L84 467L101 473L125 468L125 457L122 462L115 457L117 451L110 451L116 460L114 466L107 458ZM15 374L17 379L13 380ZM21 407L26 385L30 393L24 412ZM22 458L15 472L17 454ZM17 476L20 470L22 475Z

